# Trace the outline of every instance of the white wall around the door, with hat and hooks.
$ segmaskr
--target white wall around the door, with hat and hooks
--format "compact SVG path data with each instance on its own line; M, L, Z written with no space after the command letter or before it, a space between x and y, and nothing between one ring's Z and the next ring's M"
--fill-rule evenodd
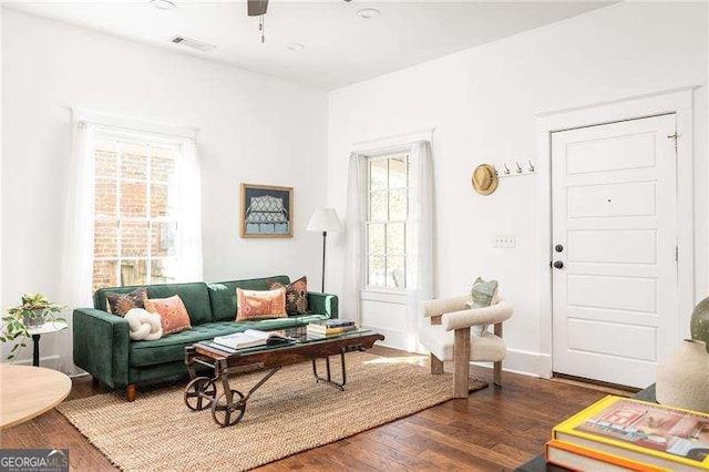
M500 280L516 307L505 328L506 368L531 373L548 360L541 347L536 177L504 179L490 197L470 185L484 162L536 160L535 113L590 105L707 81L706 3L618 3L558 23L330 93L328 201L345 213L352 143L435 127L438 296L464 294L482 275ZM696 92L696 296L707 270L707 92ZM492 247L494 235L516 247ZM343 237L335 243L331 290L341 293ZM336 276L339 276L336 277ZM402 321L391 304L363 317ZM347 316L347 314L346 314ZM687 328L688 331L688 328Z

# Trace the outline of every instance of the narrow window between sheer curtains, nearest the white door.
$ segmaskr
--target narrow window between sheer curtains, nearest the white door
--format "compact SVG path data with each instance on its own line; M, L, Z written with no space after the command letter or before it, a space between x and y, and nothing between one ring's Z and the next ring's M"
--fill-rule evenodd
M407 286L409 155L367 161L367 287Z

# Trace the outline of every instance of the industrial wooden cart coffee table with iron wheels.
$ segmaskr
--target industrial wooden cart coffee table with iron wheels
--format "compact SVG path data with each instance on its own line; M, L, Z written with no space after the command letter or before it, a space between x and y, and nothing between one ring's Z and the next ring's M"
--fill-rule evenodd
M337 337L322 339L305 334L296 337L292 345L264 346L251 349L228 349L212 341L197 342L185 348L185 363L191 381L185 387L185 404L193 411L212 409L212 418L222 427L238 423L246 412L246 402L251 394L270 379L280 368L305 361L312 362L316 382L325 382L340 390L347 383L345 355L370 349L384 337L370 330L356 330ZM340 356L340 381L333 380L330 357ZM318 373L318 359L325 359L326 377ZM207 366L214 377L198 377L195 365ZM268 372L246 393L233 389L229 373L268 369ZM217 397L217 381L222 381L223 393Z

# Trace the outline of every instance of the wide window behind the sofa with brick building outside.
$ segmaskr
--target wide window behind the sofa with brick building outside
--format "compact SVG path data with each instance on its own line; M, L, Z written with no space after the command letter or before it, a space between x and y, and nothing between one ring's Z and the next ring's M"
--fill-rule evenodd
M174 281L181 144L96 132L93 290Z

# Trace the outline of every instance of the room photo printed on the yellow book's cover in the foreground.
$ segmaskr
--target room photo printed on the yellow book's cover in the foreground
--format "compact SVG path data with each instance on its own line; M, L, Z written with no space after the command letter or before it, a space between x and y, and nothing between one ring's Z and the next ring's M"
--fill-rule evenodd
M574 428L702 463L709 456L709 415L618 399Z

